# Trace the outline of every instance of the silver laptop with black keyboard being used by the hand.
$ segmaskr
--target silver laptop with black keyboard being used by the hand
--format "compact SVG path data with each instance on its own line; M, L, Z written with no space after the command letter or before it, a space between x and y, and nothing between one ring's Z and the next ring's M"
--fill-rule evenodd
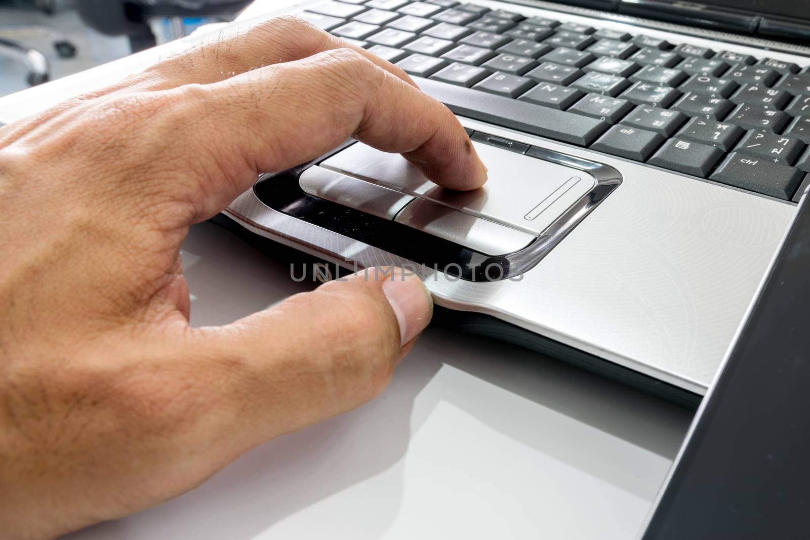
M489 181L350 140L218 221L328 273L406 267L441 321L696 406L810 181L808 8L300 2L445 103Z

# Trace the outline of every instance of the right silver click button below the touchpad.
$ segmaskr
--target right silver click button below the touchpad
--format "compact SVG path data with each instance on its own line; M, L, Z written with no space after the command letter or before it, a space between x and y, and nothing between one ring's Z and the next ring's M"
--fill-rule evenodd
M486 255L519 251L531 244L536 237L528 232L422 199L415 199L405 206L394 221Z

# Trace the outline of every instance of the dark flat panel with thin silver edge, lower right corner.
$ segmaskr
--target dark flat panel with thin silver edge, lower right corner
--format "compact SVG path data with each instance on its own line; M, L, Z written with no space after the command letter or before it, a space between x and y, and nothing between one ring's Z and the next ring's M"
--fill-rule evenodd
M701 402L641 540L808 537L808 202Z

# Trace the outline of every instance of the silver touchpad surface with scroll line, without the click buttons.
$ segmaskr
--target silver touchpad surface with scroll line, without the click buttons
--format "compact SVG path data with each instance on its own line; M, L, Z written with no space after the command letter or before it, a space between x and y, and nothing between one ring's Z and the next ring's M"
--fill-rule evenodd
M596 185L590 173L576 168L480 142L472 145L489 168L489 180L483 188L466 192L443 189L428 181L403 156L360 142L332 155L321 166L535 236Z

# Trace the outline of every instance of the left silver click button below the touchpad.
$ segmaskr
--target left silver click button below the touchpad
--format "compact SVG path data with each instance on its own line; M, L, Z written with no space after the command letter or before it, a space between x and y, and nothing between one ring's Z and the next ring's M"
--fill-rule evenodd
M399 210L413 200L382 185L372 184L321 167L310 167L298 182L306 193L327 201L351 206L382 219L394 219Z

